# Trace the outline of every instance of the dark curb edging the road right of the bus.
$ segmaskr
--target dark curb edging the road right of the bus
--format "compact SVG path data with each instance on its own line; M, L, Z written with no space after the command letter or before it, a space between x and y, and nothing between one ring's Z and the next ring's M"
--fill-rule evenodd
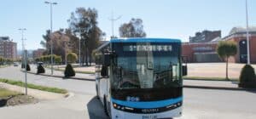
M255 91L255 88L224 88L224 87L210 87L210 86L192 86L192 85L183 85L183 88L201 88L201 89L221 89L221 90L237 90L237 91Z

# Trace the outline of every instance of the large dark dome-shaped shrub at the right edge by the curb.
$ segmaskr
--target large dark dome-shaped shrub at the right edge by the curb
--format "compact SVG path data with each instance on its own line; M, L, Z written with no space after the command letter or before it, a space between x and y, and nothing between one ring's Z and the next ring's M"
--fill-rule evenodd
M239 80L238 86L240 88L256 88L255 72L251 65L245 65L241 69Z

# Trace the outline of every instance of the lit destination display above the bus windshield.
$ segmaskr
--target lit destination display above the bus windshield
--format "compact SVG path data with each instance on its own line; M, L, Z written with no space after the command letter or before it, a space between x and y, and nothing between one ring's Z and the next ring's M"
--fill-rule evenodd
M124 46L124 51L172 51L172 45L127 45Z

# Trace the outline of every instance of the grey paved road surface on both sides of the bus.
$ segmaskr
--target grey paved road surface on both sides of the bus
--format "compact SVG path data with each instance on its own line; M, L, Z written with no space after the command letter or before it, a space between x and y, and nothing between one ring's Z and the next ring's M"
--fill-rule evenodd
M19 67L20 68L20 67ZM23 80L18 67L0 69L0 77ZM63 80L28 74L28 82L74 93L69 99L43 101L36 105L20 105L0 109L5 119L86 119L106 118L102 105L95 98L95 82ZM181 119L255 119L256 92L184 88ZM15 114L15 115L14 115Z

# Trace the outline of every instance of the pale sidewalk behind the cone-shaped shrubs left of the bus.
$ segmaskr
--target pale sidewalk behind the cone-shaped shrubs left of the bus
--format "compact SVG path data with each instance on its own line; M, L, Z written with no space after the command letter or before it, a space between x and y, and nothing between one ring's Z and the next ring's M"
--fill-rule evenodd
M51 70L49 68L44 68L44 70L45 70L45 73L44 74L39 74L39 75L64 78L64 72L63 71L55 71L54 70L53 75L51 75ZM31 65L31 71L29 71L28 73L37 74L37 66L36 65ZM95 81L95 75L94 74L76 73L75 77L67 77L67 79Z

